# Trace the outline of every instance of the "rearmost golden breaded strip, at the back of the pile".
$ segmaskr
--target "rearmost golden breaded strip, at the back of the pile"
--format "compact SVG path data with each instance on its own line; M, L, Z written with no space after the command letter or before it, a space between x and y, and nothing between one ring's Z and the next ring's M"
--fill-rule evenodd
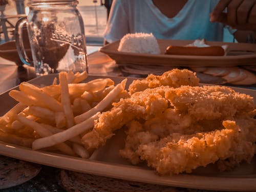
M160 86L169 86L178 88L180 86L198 86L199 78L196 77L196 73L193 73L187 69L178 70L173 69L167 71L162 75L148 75L145 79L135 80L129 86L130 94L135 92L144 91L147 88L157 88Z

